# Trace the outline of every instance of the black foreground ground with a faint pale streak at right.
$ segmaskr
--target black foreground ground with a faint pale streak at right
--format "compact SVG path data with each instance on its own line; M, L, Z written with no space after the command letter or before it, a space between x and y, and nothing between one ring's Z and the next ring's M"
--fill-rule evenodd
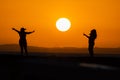
M120 80L120 58L0 54L0 80Z

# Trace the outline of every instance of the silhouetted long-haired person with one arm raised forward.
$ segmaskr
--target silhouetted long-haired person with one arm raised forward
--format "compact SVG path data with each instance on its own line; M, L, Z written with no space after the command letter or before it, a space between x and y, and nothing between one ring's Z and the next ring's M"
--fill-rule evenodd
M93 49L94 49L94 45L95 45L95 39L97 37L96 30L95 29L91 30L90 36L88 36L88 35L86 35L84 33L83 33L83 35L86 36L89 39L89 41L88 41L89 42L88 50L89 50L90 56L93 57L94 56Z

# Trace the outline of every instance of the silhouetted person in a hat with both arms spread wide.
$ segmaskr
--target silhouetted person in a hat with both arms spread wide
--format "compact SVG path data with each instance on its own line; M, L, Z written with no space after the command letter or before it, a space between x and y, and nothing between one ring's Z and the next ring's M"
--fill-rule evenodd
M27 51L27 41L26 41L26 34L31 34L32 32L25 32L25 28L21 28L20 31L16 30L15 28L12 28L14 31L18 32L20 39L19 39L19 45L21 49L21 54L23 55L23 50L25 50L26 55L28 55Z

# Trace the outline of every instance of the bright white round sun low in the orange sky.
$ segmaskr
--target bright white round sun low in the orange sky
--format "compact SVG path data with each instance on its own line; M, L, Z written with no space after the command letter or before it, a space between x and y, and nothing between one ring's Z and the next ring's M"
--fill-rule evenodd
M67 18L60 18L56 22L56 27L59 31L65 32L70 29L71 23Z

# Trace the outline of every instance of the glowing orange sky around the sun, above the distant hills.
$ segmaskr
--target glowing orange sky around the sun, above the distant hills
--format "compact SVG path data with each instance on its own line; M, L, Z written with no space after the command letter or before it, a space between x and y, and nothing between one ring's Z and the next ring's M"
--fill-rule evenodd
M95 28L96 47L120 47L120 0L0 0L0 44L18 44L12 27L36 32L28 45L39 47L87 47ZM56 29L58 18L71 21L67 32Z

